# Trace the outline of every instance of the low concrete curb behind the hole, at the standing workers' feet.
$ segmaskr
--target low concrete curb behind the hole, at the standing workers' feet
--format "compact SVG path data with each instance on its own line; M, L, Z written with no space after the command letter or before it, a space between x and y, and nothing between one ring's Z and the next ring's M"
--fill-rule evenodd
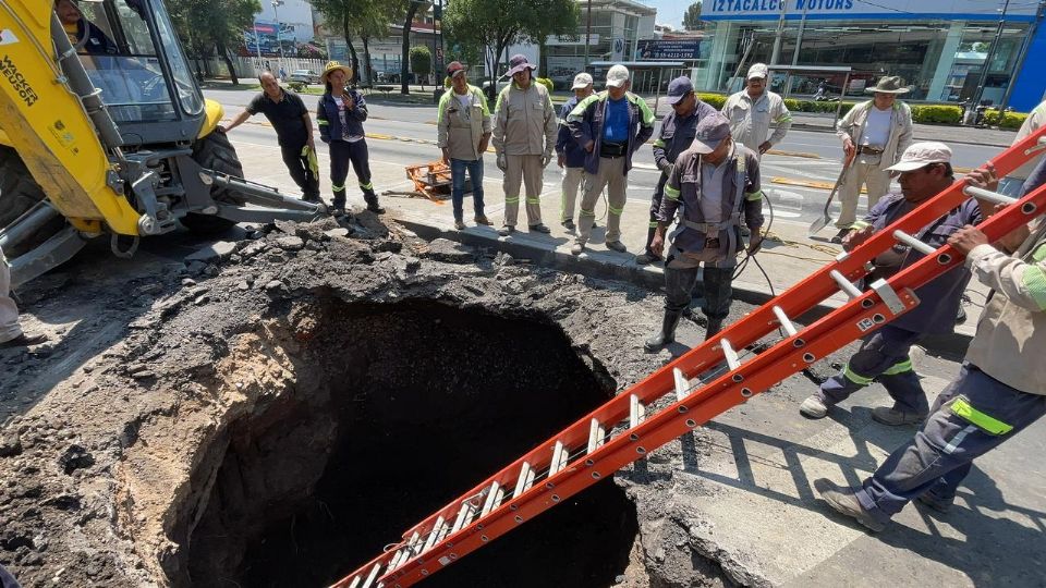
M463 245L503 252L518 259L530 259L545 268L580 273L597 280L629 282L654 291L659 291L665 283L664 272L659 266L638 266L631 257L622 259L620 254L604 250L586 249L584 254L575 257L565 250L564 245L557 245L545 235L532 236L526 231L518 231L511 237L500 237L492 229L474 226L465 231L442 229L434 225L431 219L417 215L401 212L397 215L396 220L426 241L446 238ZM746 280L734 280L733 293L737 299L756 306L762 306L774 298L767 291L766 284ZM829 298L827 303L817 305L796 320L810 323L839 306L841 301ZM961 358L973 338L971 329L962 329L962 331L964 332L926 336L921 345L936 355Z

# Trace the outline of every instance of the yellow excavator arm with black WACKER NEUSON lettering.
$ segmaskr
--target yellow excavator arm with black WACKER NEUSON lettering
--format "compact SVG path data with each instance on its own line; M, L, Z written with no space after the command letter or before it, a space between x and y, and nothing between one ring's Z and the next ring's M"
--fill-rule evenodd
M69 54L58 54L61 49ZM142 215L124 196L119 170L96 132L108 113L97 93L80 96L72 89L76 74L66 70L74 61L86 81L50 2L0 3L0 128L5 143L76 230L137 235ZM114 126L112 135L119 138Z

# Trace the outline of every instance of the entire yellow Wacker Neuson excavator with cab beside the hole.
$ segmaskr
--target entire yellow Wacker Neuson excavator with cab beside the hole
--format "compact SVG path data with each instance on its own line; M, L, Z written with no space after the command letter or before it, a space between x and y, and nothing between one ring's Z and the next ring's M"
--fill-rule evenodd
M179 224L215 232L325 212L243 180L217 128L222 108L204 99L162 0L77 9L71 27L52 0L0 1L0 249L13 285L104 235L127 257Z

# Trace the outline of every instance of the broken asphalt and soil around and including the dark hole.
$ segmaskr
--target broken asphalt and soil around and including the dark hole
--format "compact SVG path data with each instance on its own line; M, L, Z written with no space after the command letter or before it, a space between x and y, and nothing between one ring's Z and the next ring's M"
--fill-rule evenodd
M26 289L58 341L0 356L0 563L26 586L324 585L668 358L641 351L657 295L342 222ZM427 584L729 583L686 541L659 575L635 504L662 489L627 471Z

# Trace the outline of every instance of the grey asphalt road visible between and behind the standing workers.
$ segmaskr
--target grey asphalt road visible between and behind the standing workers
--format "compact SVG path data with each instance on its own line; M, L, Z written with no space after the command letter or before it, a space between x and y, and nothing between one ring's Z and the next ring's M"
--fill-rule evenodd
M251 98L253 91L208 89L208 98L217 100L226 109L226 117L235 117ZM306 107L315 111L318 97L303 96ZM368 134L388 138L372 138L372 164L391 164L397 167L410 163L431 161L438 157L436 140L436 109L430 105L379 103L378 97L369 105L370 117L365 127ZM251 124L253 123L253 124ZM659 124L659 123L658 123ZM655 130L657 136L658 130ZM234 144L275 146L276 134L263 115L254 117L232 131ZM973 168L999 152L999 148L978 145L954 144L956 167ZM323 149L323 147L321 147ZM805 154L814 157L767 155L763 158L764 191L774 206L775 217L808 223L822 216L828 192L823 188L810 188L788 185L774 180L814 181L831 184L839 175L841 148L834 134L817 131L789 132L784 140L775 147L777 151ZM640 149L634 159L634 168L629 174L629 199L648 201L657 185L660 173L654 166L653 150ZM501 172L494 157L485 158L485 175L500 177ZM377 172L376 172L377 173ZM549 166L545 170L545 183L559 181L560 170ZM405 186L405 184L404 184ZM396 188L393 189L402 189Z

